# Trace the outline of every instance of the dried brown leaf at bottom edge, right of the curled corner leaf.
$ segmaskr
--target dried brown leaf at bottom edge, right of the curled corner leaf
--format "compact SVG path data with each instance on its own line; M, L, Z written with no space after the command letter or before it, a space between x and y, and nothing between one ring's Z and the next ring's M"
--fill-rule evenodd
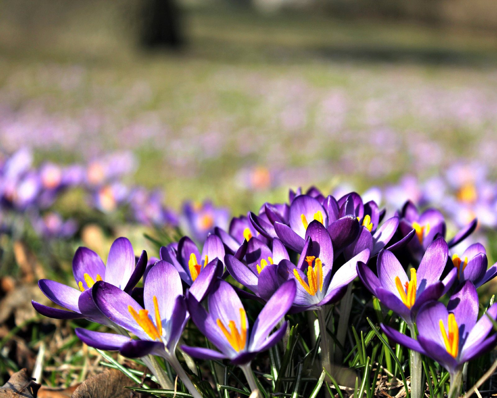
M107 369L86 379L73 393L72 398L129 398L130 390L124 387L136 387L136 384L124 373Z

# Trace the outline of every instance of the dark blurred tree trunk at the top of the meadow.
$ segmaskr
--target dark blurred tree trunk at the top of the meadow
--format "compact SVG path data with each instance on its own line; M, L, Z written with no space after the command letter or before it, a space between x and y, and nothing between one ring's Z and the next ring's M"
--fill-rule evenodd
M184 44L180 11L174 0L144 0L141 39L149 48L180 48Z

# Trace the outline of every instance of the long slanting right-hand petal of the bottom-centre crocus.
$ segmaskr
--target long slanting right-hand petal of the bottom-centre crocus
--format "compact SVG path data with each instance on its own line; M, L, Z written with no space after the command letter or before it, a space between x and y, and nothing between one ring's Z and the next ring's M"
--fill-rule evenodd
M256 349L260 346L274 326L276 326L280 319L285 316L292 306L296 292L296 283L291 280L281 285L267 301L253 324L250 342L248 344L250 349Z

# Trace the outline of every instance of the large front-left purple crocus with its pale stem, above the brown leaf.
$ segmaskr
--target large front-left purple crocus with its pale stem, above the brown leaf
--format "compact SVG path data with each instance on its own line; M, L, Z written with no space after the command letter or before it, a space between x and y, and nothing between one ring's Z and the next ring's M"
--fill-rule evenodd
M188 321L188 313L181 278L172 264L159 261L148 273L143 292L145 308L119 288L103 281L94 285L92 295L102 314L133 333L138 340L122 334L77 328L76 334L83 342L101 350L119 351L126 357L141 357L147 366L151 365L146 357L148 354L161 356L173 367L190 394L202 398L175 354L178 340ZM149 368L163 387L170 384L170 381L161 381L160 369L153 366Z

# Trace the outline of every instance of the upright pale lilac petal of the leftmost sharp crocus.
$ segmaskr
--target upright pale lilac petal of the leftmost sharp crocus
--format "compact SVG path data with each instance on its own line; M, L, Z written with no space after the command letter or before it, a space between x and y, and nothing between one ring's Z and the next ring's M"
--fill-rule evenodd
M117 238L110 246L105 281L124 289L135 270L135 253L128 238Z

